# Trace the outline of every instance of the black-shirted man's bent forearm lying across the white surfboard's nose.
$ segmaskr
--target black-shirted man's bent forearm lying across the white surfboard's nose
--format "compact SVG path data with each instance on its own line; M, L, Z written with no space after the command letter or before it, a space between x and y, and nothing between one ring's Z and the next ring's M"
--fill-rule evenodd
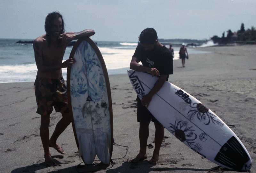
M132 57L130 63L130 69L135 71L143 71L152 74L153 76L159 76L159 71L156 68L145 67L139 64L140 60L136 57Z

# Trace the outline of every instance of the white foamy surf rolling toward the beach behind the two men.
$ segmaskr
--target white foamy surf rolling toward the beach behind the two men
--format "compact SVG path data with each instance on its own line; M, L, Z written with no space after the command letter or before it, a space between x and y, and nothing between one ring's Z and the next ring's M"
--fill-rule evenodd
M133 43L135 45L135 43ZM137 43L136 43L137 44ZM127 47L127 49L126 49ZM125 73L126 71L120 71L115 69L129 68L132 55L136 49L135 46L123 46L118 49L116 47L99 47L100 52L104 58L106 67L111 71L111 74ZM174 50L174 59L179 59L179 48ZM71 48L66 50L64 55L65 61L70 54ZM190 53L190 52L189 52ZM33 62L33 61L32 61ZM0 83L6 82L26 82L35 81L37 68L36 64L12 64L12 65L0 65ZM63 78L66 79L67 68L62 69Z

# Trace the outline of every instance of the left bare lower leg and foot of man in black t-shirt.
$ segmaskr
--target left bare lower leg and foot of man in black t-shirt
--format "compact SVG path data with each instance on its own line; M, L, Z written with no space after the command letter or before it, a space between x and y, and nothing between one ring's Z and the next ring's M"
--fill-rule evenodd
M134 159L132 159L131 162L133 163L147 159L147 142L148 142L148 135L149 135L149 130L148 130L149 123L150 121L140 122L140 130L139 130L140 153Z

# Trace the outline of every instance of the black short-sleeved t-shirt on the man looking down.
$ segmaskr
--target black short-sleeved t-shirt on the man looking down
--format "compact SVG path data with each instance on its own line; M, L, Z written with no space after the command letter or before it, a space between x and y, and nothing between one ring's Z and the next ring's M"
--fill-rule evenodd
M157 50L145 51L144 48L139 44L132 57L136 57L138 60L140 60L143 66L156 68L160 75L168 74L166 79L167 81L169 74L173 74L172 54L165 46Z

